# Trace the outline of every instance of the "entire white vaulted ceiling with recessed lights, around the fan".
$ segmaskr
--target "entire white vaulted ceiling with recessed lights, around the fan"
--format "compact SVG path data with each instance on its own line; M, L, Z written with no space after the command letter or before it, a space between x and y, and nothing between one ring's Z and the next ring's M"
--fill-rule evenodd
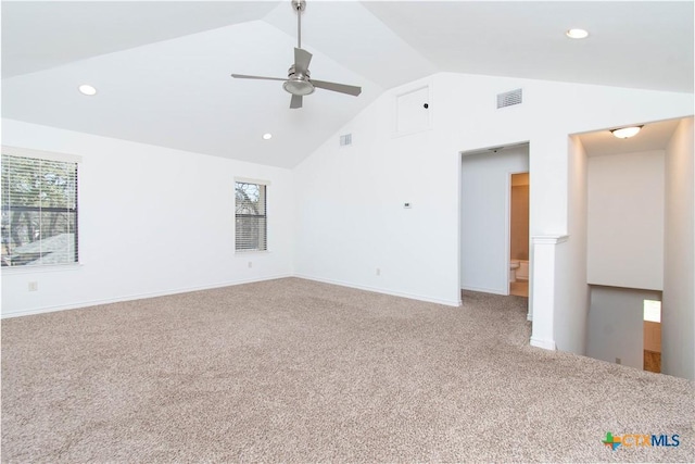
M577 26L590 38L564 36ZM281 83L229 76L285 77L295 45L289 0L2 1L2 116L291 167L437 72L693 91L692 1L307 0L312 77L362 96L319 89L290 110Z

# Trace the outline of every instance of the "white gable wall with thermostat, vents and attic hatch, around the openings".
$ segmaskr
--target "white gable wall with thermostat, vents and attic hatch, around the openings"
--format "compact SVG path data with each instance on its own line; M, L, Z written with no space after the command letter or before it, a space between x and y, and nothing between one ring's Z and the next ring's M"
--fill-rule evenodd
M396 96L424 83L431 85L432 129L393 137ZM497 110L496 95L516 88L523 103ZM692 112L688 93L452 73L391 89L295 168L296 273L456 304L460 152L530 141L531 235L567 235L569 134ZM341 149L338 136L345 133L354 146ZM402 208L405 201L412 210ZM560 284L585 294L584 264L576 253L563 259L571 272L558 275ZM567 304L534 308L533 317L586 312L585 298Z

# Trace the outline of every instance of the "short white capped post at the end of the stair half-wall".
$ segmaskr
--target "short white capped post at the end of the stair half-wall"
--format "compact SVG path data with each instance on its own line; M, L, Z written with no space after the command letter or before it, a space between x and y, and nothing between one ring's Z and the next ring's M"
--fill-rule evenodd
M567 241L566 235L531 237L533 277L531 279L530 316L533 319L531 346L555 350L555 254L556 247Z

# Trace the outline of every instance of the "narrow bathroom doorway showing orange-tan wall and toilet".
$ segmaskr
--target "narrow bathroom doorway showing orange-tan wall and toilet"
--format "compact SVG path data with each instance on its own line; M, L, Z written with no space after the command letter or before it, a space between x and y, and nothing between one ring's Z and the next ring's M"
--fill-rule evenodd
M529 297L529 173L509 177L509 294Z

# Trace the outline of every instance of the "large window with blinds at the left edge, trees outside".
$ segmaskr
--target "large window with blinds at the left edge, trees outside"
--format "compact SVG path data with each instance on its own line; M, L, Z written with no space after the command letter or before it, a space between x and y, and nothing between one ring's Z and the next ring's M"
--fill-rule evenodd
M77 263L77 163L2 151L2 266Z

